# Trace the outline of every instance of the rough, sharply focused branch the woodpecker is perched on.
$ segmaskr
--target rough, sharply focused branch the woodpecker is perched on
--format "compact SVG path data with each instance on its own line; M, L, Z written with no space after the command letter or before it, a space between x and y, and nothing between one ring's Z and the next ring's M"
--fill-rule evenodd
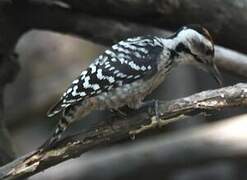
M161 125L165 123L165 120L170 121L192 114L246 105L247 84L204 91L186 98L160 102L160 117L163 119ZM81 134L60 141L54 149L44 152L35 151L0 168L0 179L29 177L62 161L78 157L95 147L129 139L130 136L135 135L133 132L143 133L157 128L159 123L150 123L155 119L154 114L153 107L148 106L128 114L126 119L114 121L112 126L101 122Z

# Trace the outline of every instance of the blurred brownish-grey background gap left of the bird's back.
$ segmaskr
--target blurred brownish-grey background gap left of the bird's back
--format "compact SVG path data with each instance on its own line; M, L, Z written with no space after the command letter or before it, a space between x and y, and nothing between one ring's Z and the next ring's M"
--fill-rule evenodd
M47 110L103 49L48 31L31 31L20 39L16 51L22 70L5 96L6 121L19 153L38 147L49 136L57 120L48 119Z

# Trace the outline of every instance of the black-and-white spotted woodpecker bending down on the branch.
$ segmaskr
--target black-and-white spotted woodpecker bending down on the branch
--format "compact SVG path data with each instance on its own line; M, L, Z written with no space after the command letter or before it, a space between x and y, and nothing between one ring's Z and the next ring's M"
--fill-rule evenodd
M212 37L200 25L184 26L169 37L138 36L114 44L82 71L48 111L48 117L62 116L45 145L54 144L73 121L92 110L140 108L179 64L194 64L221 84L213 57Z

